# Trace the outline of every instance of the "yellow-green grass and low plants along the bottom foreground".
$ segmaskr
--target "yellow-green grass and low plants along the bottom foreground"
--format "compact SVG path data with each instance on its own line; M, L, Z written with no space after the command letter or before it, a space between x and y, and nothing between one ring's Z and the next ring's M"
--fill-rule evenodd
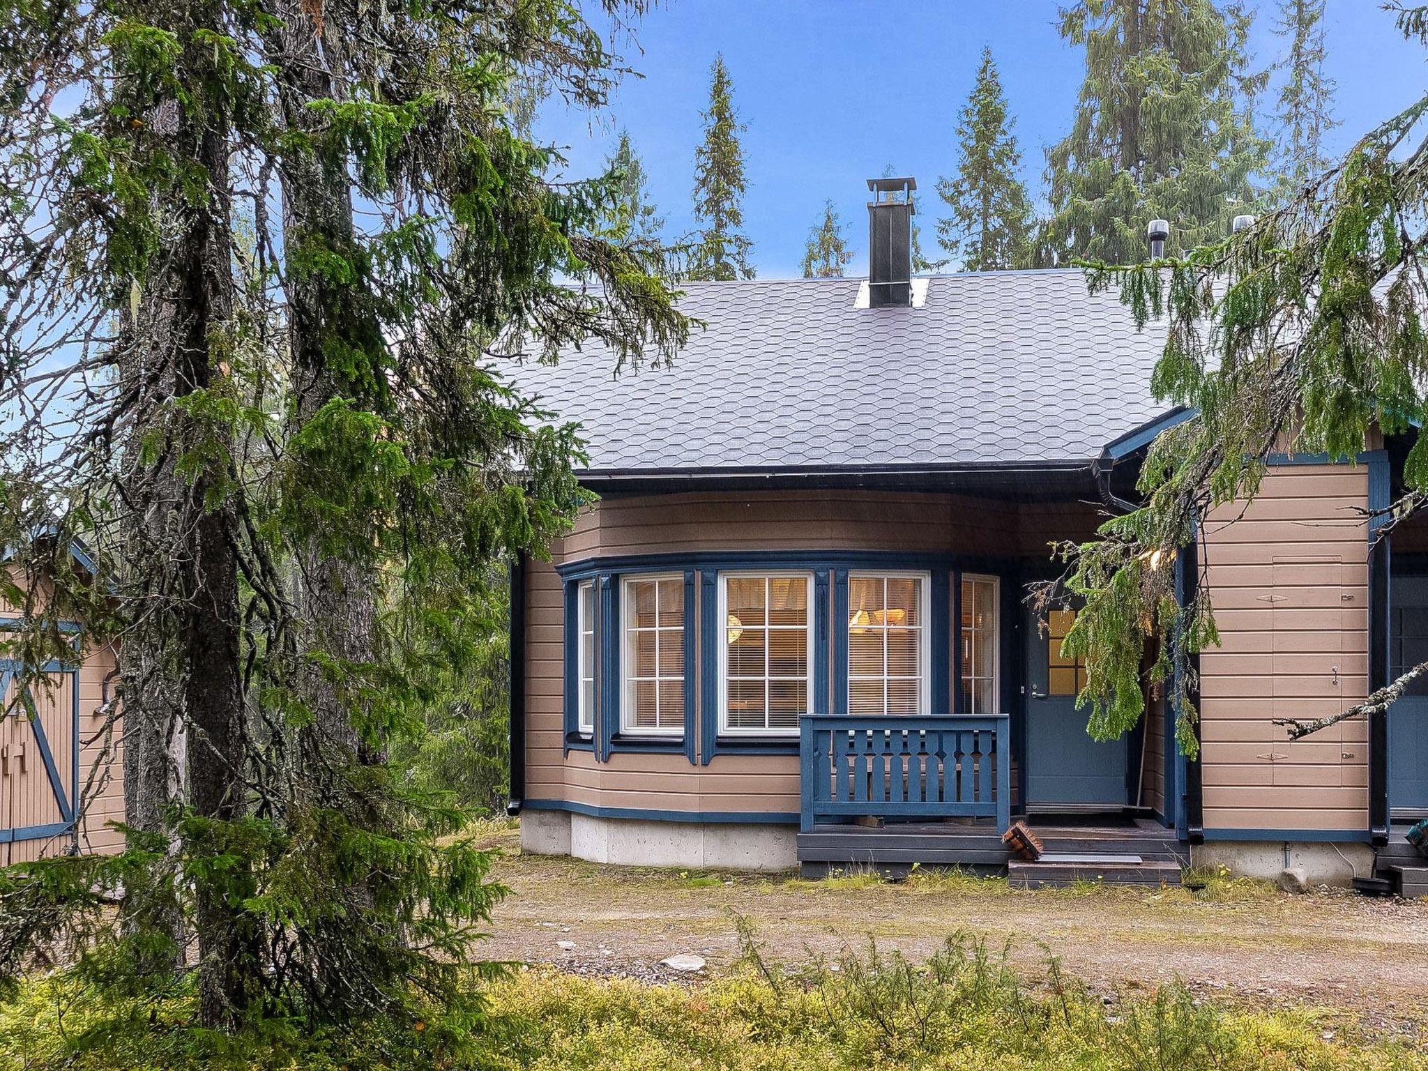
M0 1067L488 1068L490 1071L1425 1071L1404 1040L1335 1010L1231 1008L1180 984L1092 992L1054 960L1025 977L1007 950L951 938L925 961L871 942L800 967L765 962L743 920L731 974L685 985L597 980L555 970L508 974L486 990L488 1024L460 1061L423 1024L401 1031L216 1050L181 1002L144 1015L73 1000L34 980L0 1008ZM106 1020L106 1014L109 1018ZM196 1054L201 1052L201 1058ZM217 1057L216 1057L217 1052Z

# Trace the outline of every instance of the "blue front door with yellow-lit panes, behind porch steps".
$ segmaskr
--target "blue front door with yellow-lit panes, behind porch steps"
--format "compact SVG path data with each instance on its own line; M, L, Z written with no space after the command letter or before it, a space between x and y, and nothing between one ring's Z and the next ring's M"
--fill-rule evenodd
M1127 803L1125 737L1097 743L1085 731L1087 711L1075 708L1085 667L1061 657L1074 620L1074 610L1061 610L1045 627L1035 615L1027 621L1025 801L1040 810L1117 810Z

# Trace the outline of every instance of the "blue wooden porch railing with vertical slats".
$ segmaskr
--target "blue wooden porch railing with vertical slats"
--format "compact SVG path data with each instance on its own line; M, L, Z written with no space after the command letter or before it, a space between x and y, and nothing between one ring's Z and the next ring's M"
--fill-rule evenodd
M801 828L857 817L995 818L1011 825L1005 714L800 720Z

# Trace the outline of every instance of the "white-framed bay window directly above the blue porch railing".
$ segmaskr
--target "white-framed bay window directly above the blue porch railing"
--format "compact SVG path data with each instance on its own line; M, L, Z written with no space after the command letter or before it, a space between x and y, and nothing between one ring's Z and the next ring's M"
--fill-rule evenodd
M927 714L928 577L848 575L848 713Z

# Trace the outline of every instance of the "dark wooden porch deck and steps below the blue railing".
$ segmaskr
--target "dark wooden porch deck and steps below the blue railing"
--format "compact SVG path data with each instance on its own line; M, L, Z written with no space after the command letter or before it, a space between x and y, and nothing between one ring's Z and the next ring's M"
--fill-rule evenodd
M1097 857L1090 864L1014 863L1001 843L995 820L888 821L881 827L818 824L798 834L798 865L808 877L865 867L891 877L912 865L960 867L981 874L1011 873L1014 884L1058 884L1058 878L1100 878L1137 884L1180 884L1190 865L1190 848L1174 830L1148 818L1105 820L1104 824L1055 824L1028 820L1048 855ZM1115 863L1121 857L1125 863ZM1130 860L1138 860L1130 863ZM1048 870L1057 868L1057 870Z

